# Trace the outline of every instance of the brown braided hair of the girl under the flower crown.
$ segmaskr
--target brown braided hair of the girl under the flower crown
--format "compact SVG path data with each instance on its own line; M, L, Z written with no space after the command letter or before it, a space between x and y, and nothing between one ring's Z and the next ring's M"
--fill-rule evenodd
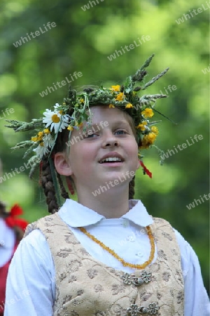
M93 106L96 106L96 105L93 105ZM125 114L125 118L130 124L132 132L134 133L134 136L137 140L137 133L136 133L136 129L135 129L134 121L132 117L130 117L130 115L127 114L127 112L125 111L123 111L123 113ZM53 148L53 152L50 155L50 158L46 158L46 157L43 158L42 163L41 163L41 169L42 169L41 185L43 187L43 191L45 194L46 203L48 204L49 213L55 213L59 209L59 204L57 201L56 190L55 190L55 187L57 186L57 184L59 185L60 195L64 199L69 198L69 194L68 192L66 192L66 189L64 187L62 176L59 173L57 173L55 169L54 159L53 159L54 154L56 152L63 152L64 150L66 150L66 143L68 142L68 140L69 140L69 131L67 129L64 129L62 130L61 133L58 133L56 143ZM132 180L129 183L129 199L134 198L134 178L132 178ZM74 183L73 183L73 180L71 179L71 176L66 177L66 182L69 183L69 181L71 182L71 185L74 187ZM57 191L58 191L58 188L57 188ZM57 194L59 194L59 192L57 192Z

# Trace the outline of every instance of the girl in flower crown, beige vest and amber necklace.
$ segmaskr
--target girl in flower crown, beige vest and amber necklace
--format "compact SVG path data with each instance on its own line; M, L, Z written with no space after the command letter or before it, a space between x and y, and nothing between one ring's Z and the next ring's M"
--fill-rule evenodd
M10 121L15 131L37 131L17 147L36 152L30 176L41 165L52 215L29 225L18 246L6 316L209 315L195 252L133 199L139 166L151 176L138 151L158 135L152 104L165 97L139 91L167 70L135 87L152 58L122 86L81 93L70 87L64 104L43 119ZM78 202L68 198L62 176ZM60 209L59 192L66 199Z

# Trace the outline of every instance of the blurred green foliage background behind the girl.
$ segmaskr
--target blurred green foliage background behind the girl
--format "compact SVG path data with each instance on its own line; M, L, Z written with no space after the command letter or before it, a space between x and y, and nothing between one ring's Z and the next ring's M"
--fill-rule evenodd
M98 4L97 4L98 2ZM90 8L81 8L89 4ZM0 11L0 133L3 174L24 166L23 152L10 150L29 136L6 129L4 119L31 120L45 108L66 96L66 86L41 97L39 93L73 72L83 77L74 84L120 84L155 53L147 79L170 67L169 72L148 88L161 90L169 98L157 103L157 110L176 122L162 119L156 145L164 152L203 139L179 150L158 163L155 149L144 152L144 162L153 179L137 172L136 198L141 198L153 216L163 217L181 232L200 259L204 284L209 289L209 201L189 210L186 205L209 194L209 10L198 0L1 0ZM207 4L203 3L204 8ZM202 7L203 8L203 7ZM184 14L192 13L190 18ZM192 16L193 15L193 16ZM176 22L183 18L183 22ZM15 47L27 33L36 32L48 22L56 27ZM133 44L141 36L150 40L110 61L107 56L121 46ZM176 86L169 92L168 86ZM6 114L6 108L13 114ZM158 115L157 115L158 116ZM28 170L0 184L0 198L10 207L18 202L25 218L36 220L47 214L45 199L38 185L27 178Z

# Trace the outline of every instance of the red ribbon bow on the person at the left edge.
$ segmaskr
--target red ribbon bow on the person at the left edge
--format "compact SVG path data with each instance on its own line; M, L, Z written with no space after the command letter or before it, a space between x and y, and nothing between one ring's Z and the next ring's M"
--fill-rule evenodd
M22 209L18 204L13 205L13 207L10 209L9 216L4 218L6 225L10 228L14 228L15 226L18 226L23 231L27 228L27 221L22 218L16 218L17 216L22 215Z

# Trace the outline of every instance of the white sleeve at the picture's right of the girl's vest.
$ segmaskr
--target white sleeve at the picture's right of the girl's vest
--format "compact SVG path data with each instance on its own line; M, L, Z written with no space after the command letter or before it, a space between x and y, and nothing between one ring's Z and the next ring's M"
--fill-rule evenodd
M210 304L204 288L200 263L193 248L177 230L174 230L181 251L181 266L184 279L185 316L209 316Z

